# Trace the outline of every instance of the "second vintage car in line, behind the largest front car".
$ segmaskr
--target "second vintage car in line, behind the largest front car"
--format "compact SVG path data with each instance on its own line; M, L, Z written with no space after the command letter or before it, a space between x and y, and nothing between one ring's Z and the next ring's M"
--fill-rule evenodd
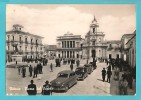
M84 80L88 76L87 68L78 67L75 69L75 74L77 75L78 80Z

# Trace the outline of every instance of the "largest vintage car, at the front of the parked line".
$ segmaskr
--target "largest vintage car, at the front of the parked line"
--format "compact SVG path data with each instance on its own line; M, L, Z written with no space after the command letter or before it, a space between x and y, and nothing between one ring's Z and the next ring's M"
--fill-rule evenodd
M77 83L77 76L74 71L64 70L59 72L57 78L50 83L53 91L67 92L70 87Z

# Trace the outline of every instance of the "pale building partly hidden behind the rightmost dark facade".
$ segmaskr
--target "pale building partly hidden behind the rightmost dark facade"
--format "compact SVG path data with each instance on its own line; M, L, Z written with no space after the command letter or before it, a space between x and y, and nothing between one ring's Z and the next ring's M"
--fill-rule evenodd
M133 34L124 34L121 38L121 58L124 61L127 61L127 52L128 52L128 48L126 43L131 39L131 37L133 37Z

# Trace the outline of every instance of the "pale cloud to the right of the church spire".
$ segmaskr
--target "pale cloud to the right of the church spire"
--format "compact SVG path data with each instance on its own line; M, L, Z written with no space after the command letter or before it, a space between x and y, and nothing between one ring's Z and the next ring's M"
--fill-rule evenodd
M136 28L135 16L115 17L103 16L99 19L100 29L106 40L120 40L123 34L132 33Z

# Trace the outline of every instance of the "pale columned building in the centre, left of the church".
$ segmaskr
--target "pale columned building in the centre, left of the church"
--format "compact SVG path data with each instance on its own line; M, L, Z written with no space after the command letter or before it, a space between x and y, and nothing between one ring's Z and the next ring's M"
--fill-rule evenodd
M81 53L81 35L73 35L72 33L64 34L57 37L58 58L79 58Z

